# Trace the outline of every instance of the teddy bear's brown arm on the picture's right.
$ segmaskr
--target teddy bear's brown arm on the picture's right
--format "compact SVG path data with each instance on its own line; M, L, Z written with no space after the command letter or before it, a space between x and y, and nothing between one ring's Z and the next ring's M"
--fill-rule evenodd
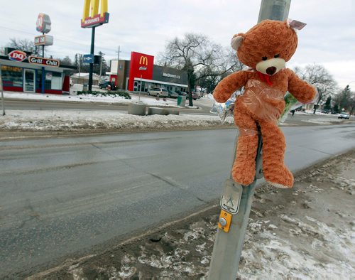
M301 80L295 72L288 69L288 91L301 103L311 102L316 95L315 87Z

